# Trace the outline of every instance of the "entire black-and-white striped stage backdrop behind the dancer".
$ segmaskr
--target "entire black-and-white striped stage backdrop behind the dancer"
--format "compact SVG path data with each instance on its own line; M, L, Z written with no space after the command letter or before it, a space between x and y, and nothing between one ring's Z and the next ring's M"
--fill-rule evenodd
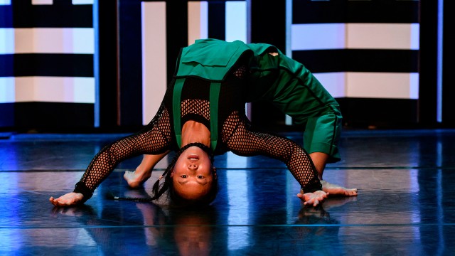
M419 122L419 1L2 0L0 16L0 127L146 124L197 38L282 48L348 126Z

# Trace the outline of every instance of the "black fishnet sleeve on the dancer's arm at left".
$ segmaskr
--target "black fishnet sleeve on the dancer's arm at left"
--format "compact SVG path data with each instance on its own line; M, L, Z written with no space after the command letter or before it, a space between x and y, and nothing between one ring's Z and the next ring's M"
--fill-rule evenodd
M141 154L164 153L170 147L170 138L169 115L164 105L161 105L159 114L141 132L119 139L96 154L80 181L76 183L74 192L82 193L84 201L87 201L117 164Z

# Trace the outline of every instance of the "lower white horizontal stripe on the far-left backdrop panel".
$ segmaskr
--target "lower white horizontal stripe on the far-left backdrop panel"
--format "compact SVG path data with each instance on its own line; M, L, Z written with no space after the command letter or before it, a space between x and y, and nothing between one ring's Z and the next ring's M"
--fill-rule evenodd
M0 78L0 103L70 102L94 103L95 78L16 77Z

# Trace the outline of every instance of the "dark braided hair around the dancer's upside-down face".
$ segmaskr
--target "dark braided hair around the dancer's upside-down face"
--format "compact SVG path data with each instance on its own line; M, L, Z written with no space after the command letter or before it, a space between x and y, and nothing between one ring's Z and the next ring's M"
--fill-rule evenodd
M171 178L172 171L174 169L174 166L176 165L176 162L178 160L178 157L191 146L198 146L200 149L203 149L203 151L207 152L207 154L210 156L210 162L212 164L212 175L213 175L213 183L212 186L210 187L210 190L205 196L202 196L197 199L189 200L186 198L181 197L176 191L173 189L173 181ZM164 182L160 184L161 178L164 178ZM166 168L166 171L160 176L160 178L154 183L154 186L152 188L152 191L154 193L154 196L150 198L150 201L155 200L160 198L164 192L168 192L168 196L171 199L171 203L175 206L207 206L210 203L212 203L213 200L215 200L215 197L218 193L218 178L216 176L216 169L213 166L213 151L210 149L210 147L205 146L202 143L190 143L187 144L186 146L183 146L174 156L174 158L171 161L171 164L168 165L168 168Z

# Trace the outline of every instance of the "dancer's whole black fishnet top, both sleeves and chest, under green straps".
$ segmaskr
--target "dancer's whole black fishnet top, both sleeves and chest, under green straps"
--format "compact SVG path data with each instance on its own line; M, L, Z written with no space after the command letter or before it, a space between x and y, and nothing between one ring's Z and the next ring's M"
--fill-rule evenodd
M309 155L295 142L252 126L245 116L245 76L247 69L240 66L223 82L220 90L218 112L218 146L215 154L226 151L240 156L264 155L279 159L287 165L291 174L300 183L304 192L321 190L316 169ZM183 125L188 119L196 120L210 128L210 82L198 78L187 78L181 97ZM84 195L84 201L92 196L95 188L125 159L141 154L162 154L178 150L172 121L173 82L168 88L161 107L151 122L140 132L119 139L105 146L92 159L75 192Z

